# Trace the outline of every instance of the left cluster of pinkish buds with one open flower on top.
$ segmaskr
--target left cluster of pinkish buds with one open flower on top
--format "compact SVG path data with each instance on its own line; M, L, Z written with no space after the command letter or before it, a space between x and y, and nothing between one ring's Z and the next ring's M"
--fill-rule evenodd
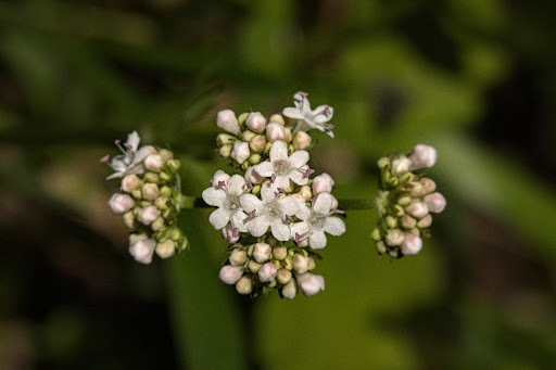
M150 264L154 253L161 258L173 256L187 246L184 233L176 227L178 202L176 171L179 162L172 152L151 145L139 148L139 135L134 131L127 141L116 140L121 155L108 163L114 174L106 179L122 178L121 192L109 201L114 215L122 215L129 228L129 253L142 264Z

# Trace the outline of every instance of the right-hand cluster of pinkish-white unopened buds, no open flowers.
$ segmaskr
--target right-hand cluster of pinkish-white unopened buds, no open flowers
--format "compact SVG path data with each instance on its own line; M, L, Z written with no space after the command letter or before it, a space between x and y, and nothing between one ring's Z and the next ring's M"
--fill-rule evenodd
M431 213L446 206L437 184L415 170L430 168L438 152L430 145L418 144L408 156L400 153L378 161L381 170L380 192L376 200L380 218L371 238L379 254L393 258L419 253L422 239L430 237Z

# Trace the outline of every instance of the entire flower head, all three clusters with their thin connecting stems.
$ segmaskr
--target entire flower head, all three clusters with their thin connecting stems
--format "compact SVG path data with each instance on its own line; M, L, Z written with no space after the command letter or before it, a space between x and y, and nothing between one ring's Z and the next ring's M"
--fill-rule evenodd
M333 138L333 109L312 110L304 92L293 101L293 107L268 119L258 112L218 112L216 124L226 132L217 136L216 144L228 169L214 174L202 192L204 205L181 194L179 162L172 152L139 148L136 131L125 143L117 140L122 154L101 162L114 170L108 179L122 179L109 207L130 230L134 258L150 264L154 253L167 258L184 251L188 243L177 225L179 210L212 206L216 209L208 221L227 243L222 281L251 296L276 290L292 299L300 292L312 296L325 290L325 279L313 273L320 259L317 251L327 245L327 234L345 232L345 213L332 195L332 177L316 175L308 165L314 142L309 131ZM380 189L374 206L379 219L371 238L380 255L401 258L421 250L431 213L446 205L434 181L420 171L437 158L434 148L419 144L409 155L394 153L378 161ZM343 202L350 209L370 208L368 201Z

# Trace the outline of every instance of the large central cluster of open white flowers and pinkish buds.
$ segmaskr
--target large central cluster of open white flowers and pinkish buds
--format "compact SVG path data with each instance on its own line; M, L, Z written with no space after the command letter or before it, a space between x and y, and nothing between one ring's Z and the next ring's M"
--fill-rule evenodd
M275 114L269 123L258 112L236 117L230 111L217 115L218 127L228 133L217 137L219 153L231 158L240 175L214 174L203 201L217 207L208 220L222 230L230 256L220 279L235 284L240 294L260 295L273 289L293 298L298 291L307 296L325 289L315 268L315 250L327 244L326 233L345 231L338 201L331 195L333 179L307 165L313 128L330 136L332 117L327 105L311 111L307 94L294 95L295 107L283 110L292 118L287 125ZM293 133L293 135L292 135Z

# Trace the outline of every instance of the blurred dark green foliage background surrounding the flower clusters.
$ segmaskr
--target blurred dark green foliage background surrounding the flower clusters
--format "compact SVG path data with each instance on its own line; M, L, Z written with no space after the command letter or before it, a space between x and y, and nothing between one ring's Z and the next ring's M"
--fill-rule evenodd
M0 1L1 369L549 369L556 360L556 2ZM317 173L376 194L375 163L438 148L445 194L412 258L351 212L326 291L251 301L218 278L208 209L191 248L140 266L99 158L137 129L199 195L216 112L334 107Z

